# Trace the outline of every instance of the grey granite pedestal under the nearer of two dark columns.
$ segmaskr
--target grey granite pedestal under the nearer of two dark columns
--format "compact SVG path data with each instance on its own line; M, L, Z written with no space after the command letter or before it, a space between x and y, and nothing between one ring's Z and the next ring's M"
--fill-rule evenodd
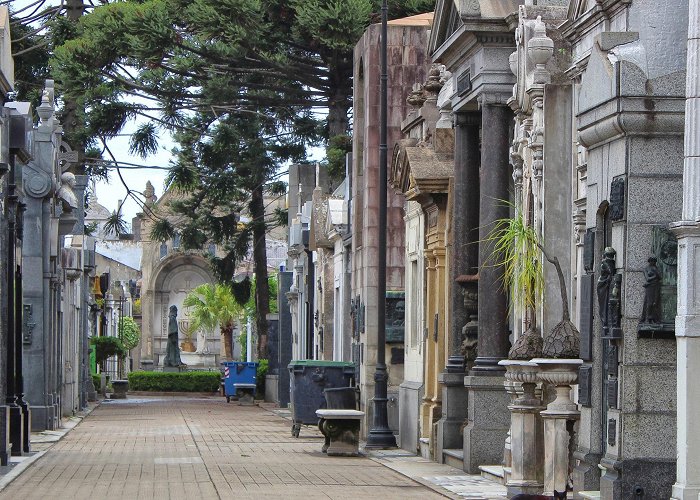
M478 474L480 465L501 464L510 427L510 398L503 390L504 377L467 376L469 392L467 426L464 428L464 471Z

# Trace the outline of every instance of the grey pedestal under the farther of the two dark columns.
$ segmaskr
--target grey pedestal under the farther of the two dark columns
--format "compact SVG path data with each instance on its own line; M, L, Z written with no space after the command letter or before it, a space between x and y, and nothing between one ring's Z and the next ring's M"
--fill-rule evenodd
M468 393L464 373L441 373L438 382L442 385L442 417L437 423L435 459L441 464L445 461L443 450L462 448Z

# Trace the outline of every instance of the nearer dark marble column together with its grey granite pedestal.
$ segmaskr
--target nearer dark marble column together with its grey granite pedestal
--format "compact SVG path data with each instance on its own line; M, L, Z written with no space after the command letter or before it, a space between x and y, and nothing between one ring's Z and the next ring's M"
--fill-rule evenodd
M494 103L491 97L481 97L478 352L470 376L464 377L469 390L468 422L463 434L464 470L471 474L478 473L480 465L501 464L510 427L509 397L503 390L505 369L498 365L508 356L510 347L508 307L500 282L502 269L489 260L493 245L486 240L493 223L509 216L508 206L502 200L509 196L508 130L512 112Z

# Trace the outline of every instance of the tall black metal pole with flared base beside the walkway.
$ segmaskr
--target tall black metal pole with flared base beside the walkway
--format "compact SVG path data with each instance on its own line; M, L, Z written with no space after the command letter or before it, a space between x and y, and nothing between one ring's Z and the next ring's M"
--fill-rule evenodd
M379 235L377 238L377 368L374 373L374 413L367 436L368 448L395 448L396 438L389 429L386 373L386 219L387 219L387 0L382 2L380 44L381 75L379 96Z

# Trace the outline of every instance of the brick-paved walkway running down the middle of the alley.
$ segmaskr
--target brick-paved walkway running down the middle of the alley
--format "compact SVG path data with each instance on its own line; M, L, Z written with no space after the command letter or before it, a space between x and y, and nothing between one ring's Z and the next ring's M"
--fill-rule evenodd
M223 398L106 401L0 499L444 498L364 457L327 457L312 427Z

